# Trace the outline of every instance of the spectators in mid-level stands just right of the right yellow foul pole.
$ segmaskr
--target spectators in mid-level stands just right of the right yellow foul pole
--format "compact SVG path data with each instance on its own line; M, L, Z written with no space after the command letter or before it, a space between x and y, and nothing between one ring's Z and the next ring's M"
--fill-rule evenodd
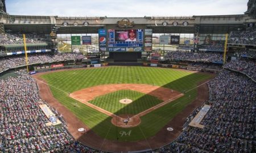
M232 60L226 63L224 67L241 71L256 80L256 63L253 61L244 59Z

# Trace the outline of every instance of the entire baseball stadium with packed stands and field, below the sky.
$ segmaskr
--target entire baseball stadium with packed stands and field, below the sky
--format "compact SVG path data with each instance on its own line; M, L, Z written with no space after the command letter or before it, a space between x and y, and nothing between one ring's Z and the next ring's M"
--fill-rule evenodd
M255 152L256 1L237 15L10 15L0 152Z

